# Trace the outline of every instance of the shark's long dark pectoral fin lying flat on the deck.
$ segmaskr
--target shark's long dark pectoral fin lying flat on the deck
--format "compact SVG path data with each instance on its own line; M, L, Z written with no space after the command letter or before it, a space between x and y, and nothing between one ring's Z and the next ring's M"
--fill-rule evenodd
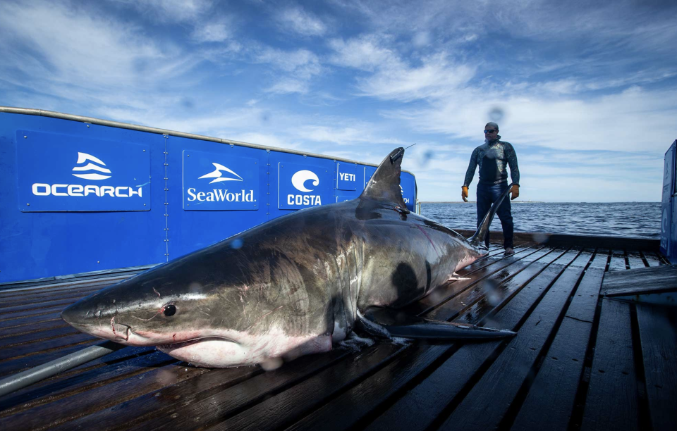
M387 332L390 337L436 339L440 341L482 341L516 335L515 332L510 330L497 330L489 327L420 318L392 308L370 307L360 318L361 320L368 320L364 325L367 331L372 332L370 327L377 326Z

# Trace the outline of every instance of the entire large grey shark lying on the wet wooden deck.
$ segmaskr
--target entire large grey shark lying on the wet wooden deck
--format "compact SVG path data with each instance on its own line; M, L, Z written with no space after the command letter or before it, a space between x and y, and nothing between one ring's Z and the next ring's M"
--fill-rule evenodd
M412 338L514 335L389 314L486 254L493 218L490 211L468 241L410 213L399 187L403 152L384 159L358 199L253 227L87 296L61 317L82 332L207 367L329 351L360 320Z

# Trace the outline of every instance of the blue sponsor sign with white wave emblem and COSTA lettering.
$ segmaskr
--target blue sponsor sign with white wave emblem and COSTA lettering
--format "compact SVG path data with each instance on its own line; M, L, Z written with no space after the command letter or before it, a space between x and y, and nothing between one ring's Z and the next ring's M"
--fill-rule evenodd
M307 163L279 163L278 208L303 209L334 201L333 172Z

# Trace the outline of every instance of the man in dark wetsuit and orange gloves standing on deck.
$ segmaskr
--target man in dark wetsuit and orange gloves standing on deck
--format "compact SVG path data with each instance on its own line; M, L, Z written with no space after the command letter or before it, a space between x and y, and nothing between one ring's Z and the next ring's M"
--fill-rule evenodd
M517 166L517 154L509 142L503 142L499 136L499 125L487 123L484 126L484 144L472 151L470 164L465 172L465 181L461 187L461 197L468 202L468 186L475 176L475 168L480 166L480 182L477 184L477 227L480 227L482 218L487 215L492 204L508 187L508 166L513 187L510 190L511 198L520 195L520 169ZM513 254L513 215L510 211L510 201L504 200L496 211L503 225L503 247L506 254ZM489 235L487 235L487 247Z

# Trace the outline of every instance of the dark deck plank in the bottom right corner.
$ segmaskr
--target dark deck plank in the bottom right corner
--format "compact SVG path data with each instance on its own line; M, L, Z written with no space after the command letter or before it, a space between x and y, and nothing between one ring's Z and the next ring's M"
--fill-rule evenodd
M674 308L637 305L649 415L654 430L677 424L677 326Z

